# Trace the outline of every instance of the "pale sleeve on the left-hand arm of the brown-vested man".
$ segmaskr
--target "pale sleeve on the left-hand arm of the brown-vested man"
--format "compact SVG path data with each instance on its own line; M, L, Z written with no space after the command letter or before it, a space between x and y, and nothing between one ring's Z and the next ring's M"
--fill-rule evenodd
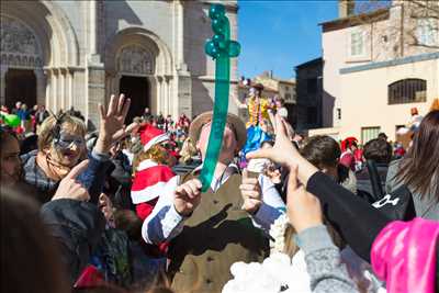
M172 239L183 229L184 217L173 206L173 192L180 177L168 181L150 215L142 225L142 236L148 244L160 244Z

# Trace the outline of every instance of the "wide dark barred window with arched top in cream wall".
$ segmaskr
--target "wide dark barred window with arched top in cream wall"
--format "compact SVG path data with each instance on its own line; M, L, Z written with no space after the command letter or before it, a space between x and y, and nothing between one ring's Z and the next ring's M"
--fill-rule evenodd
M426 102L427 81L424 79L403 79L389 84L389 104Z

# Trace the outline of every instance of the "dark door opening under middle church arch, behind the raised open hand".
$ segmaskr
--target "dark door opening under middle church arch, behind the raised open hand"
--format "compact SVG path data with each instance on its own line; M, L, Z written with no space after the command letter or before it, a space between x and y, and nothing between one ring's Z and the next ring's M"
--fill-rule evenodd
M120 93L131 99L126 124L130 124L135 116L140 116L146 106L150 108L150 86L146 77L122 76Z

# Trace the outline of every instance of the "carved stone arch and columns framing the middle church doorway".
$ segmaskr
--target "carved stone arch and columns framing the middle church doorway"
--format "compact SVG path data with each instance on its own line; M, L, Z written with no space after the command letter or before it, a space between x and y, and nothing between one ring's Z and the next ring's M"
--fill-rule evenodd
M171 102L175 93L173 64L169 48L153 32L128 27L119 32L105 47L105 92L120 92L122 77L140 77L147 80L147 101L150 112L170 113L177 109ZM133 108L136 101L133 99ZM144 108L144 106L142 106ZM142 109L143 111L144 109Z

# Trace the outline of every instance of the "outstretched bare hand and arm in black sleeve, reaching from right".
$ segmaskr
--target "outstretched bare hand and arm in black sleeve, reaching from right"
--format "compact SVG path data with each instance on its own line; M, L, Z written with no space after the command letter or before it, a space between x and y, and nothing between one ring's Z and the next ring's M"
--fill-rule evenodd
M344 189L303 158L288 138L284 121L277 115L277 137L272 148L259 149L247 158L269 158L290 168L297 167L297 178L322 203L325 217L363 259L370 260L372 243L390 222L368 202Z

